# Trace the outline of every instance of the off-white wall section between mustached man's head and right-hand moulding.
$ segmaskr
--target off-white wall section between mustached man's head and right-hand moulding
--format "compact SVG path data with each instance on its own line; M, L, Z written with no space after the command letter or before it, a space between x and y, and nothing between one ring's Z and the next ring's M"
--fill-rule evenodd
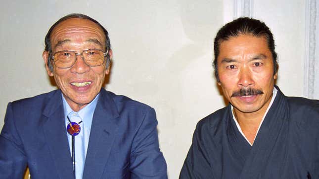
M277 85L287 96L303 96L305 1L256 0L254 17L272 30L279 61Z

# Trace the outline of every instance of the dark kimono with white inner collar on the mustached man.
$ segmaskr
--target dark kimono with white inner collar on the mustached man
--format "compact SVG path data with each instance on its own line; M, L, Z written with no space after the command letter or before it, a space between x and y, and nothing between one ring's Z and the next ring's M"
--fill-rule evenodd
M319 101L276 88L253 146L230 105L200 120L180 179L319 179Z

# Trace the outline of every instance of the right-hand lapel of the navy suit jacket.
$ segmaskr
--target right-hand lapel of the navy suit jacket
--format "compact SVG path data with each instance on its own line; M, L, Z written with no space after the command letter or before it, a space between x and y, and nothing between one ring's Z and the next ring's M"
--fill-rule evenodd
M117 134L119 116L113 99L102 89L92 120L83 179L102 177L112 144Z

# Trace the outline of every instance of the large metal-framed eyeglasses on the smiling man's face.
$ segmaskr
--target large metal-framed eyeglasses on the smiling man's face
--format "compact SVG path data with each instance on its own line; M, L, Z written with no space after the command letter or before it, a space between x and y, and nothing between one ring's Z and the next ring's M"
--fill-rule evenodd
M54 65L59 69L67 69L72 67L77 56L81 55L85 64L90 67L96 67L104 64L106 53L99 49L86 49L86 50L64 50L55 52L52 56Z

